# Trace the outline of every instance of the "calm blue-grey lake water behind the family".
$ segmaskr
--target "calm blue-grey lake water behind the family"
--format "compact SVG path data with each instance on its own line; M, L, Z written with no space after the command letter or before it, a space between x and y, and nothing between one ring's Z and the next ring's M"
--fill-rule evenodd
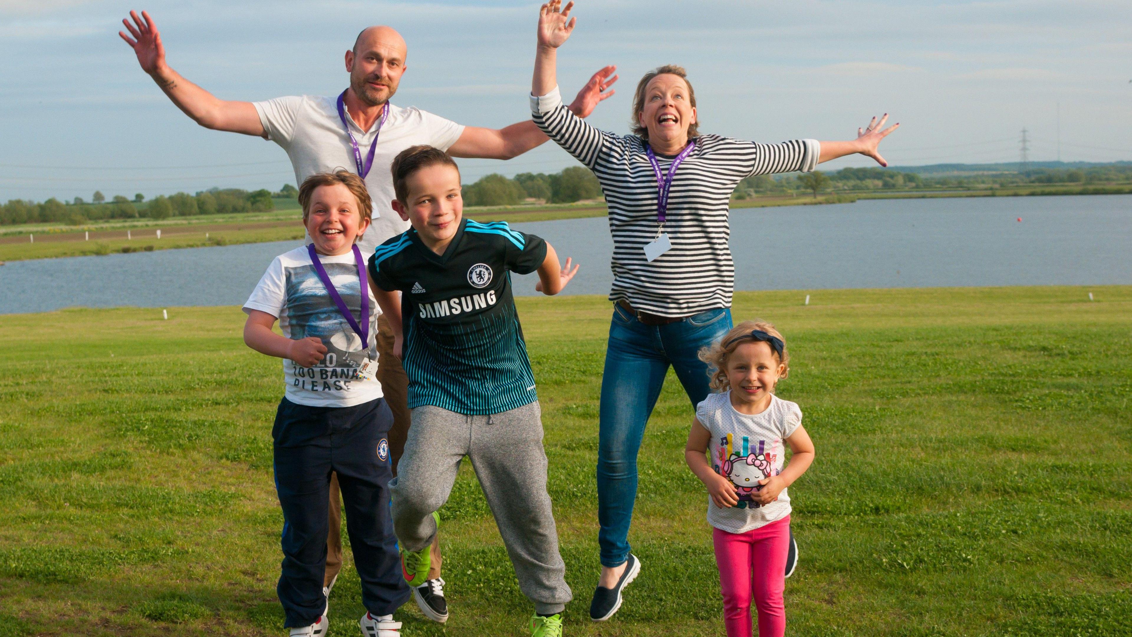
M1021 221L1018 221L1021 218ZM582 264L564 294L607 294L604 218L516 223ZM301 241L11 262L0 313L239 305ZM1132 195L866 199L736 210L738 290L1132 283ZM534 275L515 277L533 295Z

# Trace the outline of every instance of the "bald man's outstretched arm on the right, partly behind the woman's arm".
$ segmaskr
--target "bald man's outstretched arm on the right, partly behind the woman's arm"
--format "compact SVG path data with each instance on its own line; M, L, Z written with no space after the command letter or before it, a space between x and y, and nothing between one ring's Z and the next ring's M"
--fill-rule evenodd
M578 91L569 110L577 117L585 118L593 112L598 102L610 97L616 91L607 91L617 76L617 67L608 66L593 74L590 82ZM612 77L610 77L612 76ZM506 128L464 127L460 139L448 148L448 154L456 158L512 159L542 144L549 139L533 121L526 120L513 124Z

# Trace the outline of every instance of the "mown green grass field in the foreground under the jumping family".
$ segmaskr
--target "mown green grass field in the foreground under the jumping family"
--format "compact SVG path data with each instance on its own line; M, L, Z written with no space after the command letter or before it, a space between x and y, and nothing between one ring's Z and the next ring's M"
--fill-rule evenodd
M722 634L671 375L640 457L642 575L612 621L589 621L609 305L518 304L576 597L566 634ZM0 316L5 635L285 635L281 365L242 345L238 308L169 315ZM740 292L735 316L786 334L779 393L817 448L791 486L790 635L1132 634L1132 287ZM447 634L523 635L531 606L466 464L441 516ZM362 613L348 555L331 635L358 635ZM398 618L445 634L412 603Z

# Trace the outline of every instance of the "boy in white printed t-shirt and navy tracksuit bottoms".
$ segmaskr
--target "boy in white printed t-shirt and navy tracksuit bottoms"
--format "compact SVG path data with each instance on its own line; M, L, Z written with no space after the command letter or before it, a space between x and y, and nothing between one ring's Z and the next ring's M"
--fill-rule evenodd
M326 634L331 473L345 501L361 579L367 637L397 637L393 611L410 596L389 519L393 415L374 377L377 301L355 241L369 227L365 182L344 170L299 188L311 244L275 257L243 305L248 347L283 359L286 392L275 415L275 489L283 508L276 588L292 636ZM283 336L272 331L276 318Z

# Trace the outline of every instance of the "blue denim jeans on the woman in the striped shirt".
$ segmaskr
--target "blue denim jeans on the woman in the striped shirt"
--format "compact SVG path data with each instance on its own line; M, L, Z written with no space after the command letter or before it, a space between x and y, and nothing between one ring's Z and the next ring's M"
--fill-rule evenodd
M636 457L644 426L657 405L668 366L684 385L693 409L711 389L700 348L731 329L731 311L709 309L668 325L645 325L615 305L601 379L598 441L598 521L601 564L616 567L629 554L629 523L636 500Z

